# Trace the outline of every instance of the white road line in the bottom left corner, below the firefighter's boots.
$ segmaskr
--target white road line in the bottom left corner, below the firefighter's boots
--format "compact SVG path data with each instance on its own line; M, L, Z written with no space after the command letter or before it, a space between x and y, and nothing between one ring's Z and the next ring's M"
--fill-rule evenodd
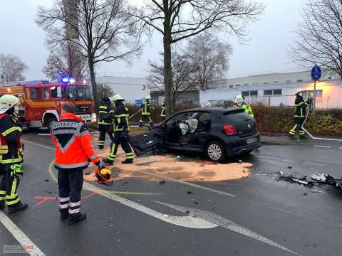
M12 222L12 220L6 216L5 213L3 213L0 210L0 222L5 226L7 230L9 230L9 233L11 233L16 240L23 245L23 249L26 250L26 252L29 255L32 256L45 256L45 254L38 248L37 245L35 245L26 235L23 231L21 231L16 224ZM33 249L28 249L28 247L33 246ZM10 253L10 252L9 252Z

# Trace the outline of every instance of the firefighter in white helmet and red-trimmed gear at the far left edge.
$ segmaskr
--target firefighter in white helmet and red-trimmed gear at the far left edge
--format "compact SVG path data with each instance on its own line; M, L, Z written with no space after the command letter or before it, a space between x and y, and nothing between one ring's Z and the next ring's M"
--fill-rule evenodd
M17 189L23 174L23 149L21 146L21 128L14 108L19 99L14 95L0 97L0 210L4 210L5 201L8 213L25 210L27 203L21 203Z

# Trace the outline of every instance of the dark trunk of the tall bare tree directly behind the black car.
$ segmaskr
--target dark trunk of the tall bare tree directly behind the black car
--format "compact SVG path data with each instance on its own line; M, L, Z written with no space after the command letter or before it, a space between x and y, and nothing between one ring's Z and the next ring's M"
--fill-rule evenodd
M172 104L172 67L171 67L171 28L170 17L165 15L164 21L164 85L165 85L165 114L166 117L174 112Z

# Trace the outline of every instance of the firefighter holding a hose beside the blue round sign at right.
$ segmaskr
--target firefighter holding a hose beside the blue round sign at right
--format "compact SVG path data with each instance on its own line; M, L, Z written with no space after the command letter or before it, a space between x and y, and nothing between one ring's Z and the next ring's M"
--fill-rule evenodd
M304 124L306 117L306 107L311 105L311 98L307 101L304 100L303 90L301 88L296 90L296 100L294 102L294 127L289 132L289 137L293 139L296 135L296 131L299 132L300 139L308 139L305 135L303 129L301 129Z

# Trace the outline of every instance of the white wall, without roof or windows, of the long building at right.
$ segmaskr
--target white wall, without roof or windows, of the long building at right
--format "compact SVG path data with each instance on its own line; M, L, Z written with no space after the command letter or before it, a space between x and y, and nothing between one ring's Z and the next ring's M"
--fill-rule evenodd
M199 102L202 104L208 100L234 100L244 91L258 91L258 97L246 97L247 102L262 102L271 106L293 106L296 89L314 90L314 82L291 82L272 85L249 85L227 89L212 89L199 92ZM281 89L281 96L265 96L264 90ZM317 100L316 107L341 108L342 107L342 85L340 80L325 80L316 83L316 90L322 90L321 100Z

